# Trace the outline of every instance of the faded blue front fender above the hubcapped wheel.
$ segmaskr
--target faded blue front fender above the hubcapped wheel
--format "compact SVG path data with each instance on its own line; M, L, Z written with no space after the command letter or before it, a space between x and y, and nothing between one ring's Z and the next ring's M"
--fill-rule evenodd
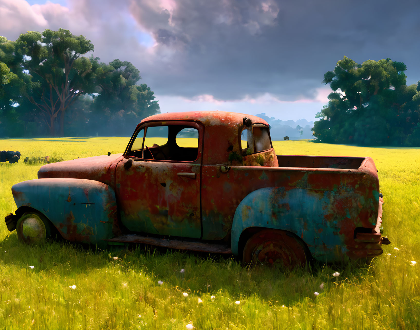
M45 178L12 186L17 207L28 206L44 214L68 241L105 247L115 236L117 204L113 189L99 181Z

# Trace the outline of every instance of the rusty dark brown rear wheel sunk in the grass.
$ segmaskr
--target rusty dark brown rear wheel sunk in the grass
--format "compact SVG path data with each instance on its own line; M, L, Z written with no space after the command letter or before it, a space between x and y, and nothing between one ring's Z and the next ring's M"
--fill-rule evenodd
M248 239L242 252L242 261L293 268L309 262L309 251L304 242L293 233L262 229Z

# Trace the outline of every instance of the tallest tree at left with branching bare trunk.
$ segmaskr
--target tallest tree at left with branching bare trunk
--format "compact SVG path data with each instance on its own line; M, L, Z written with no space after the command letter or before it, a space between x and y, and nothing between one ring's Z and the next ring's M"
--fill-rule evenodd
M55 135L55 118L60 115L60 136L68 107L84 92L93 90L92 64L80 55L93 50L90 40L66 29L29 31L15 42L21 65L32 77L25 97L41 111L50 134ZM15 53L16 54L16 53Z

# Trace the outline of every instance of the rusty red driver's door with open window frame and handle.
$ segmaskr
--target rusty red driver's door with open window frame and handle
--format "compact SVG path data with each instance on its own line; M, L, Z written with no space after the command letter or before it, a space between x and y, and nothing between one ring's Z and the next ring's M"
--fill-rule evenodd
M139 128L115 173L126 228L201 237L201 133L195 122L152 122Z

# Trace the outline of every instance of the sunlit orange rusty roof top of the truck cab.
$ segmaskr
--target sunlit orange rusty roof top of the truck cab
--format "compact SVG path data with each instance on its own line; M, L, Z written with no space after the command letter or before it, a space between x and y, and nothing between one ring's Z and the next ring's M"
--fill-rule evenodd
M238 127L242 124L244 117L251 119L252 123L262 123L268 126L268 123L257 116L247 115L244 113L226 112L226 111L188 111L188 112L172 112L159 113L144 118L141 123L149 120L198 120L205 126L227 125Z

